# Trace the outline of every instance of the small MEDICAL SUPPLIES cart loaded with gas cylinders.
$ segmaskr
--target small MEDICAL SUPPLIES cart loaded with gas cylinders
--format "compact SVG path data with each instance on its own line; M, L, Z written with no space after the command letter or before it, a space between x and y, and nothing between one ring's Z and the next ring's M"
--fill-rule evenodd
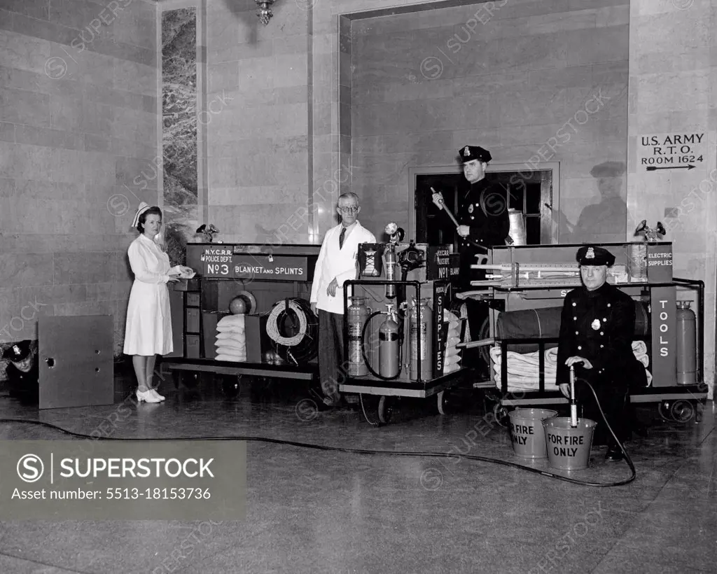
M446 355L450 323L457 322L447 320L450 280L356 280L344 286L347 368L339 391L359 395L361 412L372 426L388 424L402 397L432 397L444 414L447 393L464 373L460 353ZM386 298L391 290L395 295Z

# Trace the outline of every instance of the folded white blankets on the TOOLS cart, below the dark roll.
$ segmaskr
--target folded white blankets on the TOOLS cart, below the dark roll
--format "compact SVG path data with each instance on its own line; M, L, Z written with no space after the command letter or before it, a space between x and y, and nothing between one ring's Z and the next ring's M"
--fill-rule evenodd
M540 351L533 353L516 353L508 351L508 391L537 391L540 388ZM647 356L647 345L645 341L633 341L632 353L635 358L645 365L647 384L652 382L652 374L647 367L650 366L650 358ZM490 358L493 363L493 381L495 386L501 388L500 368L501 353L500 347L490 349ZM545 352L545 390L557 391L556 376L558 373L558 349L552 348Z

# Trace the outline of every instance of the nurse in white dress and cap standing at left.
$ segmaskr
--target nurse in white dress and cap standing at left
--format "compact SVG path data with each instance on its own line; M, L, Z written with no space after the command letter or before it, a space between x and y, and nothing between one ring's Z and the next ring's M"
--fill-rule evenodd
M125 325L125 355L133 355L132 364L139 387L137 400L158 403L164 400L152 387L157 355L171 353L172 325L169 313L168 282L192 274L189 267L170 267L168 255L154 238L162 226L162 212L142 202L133 226L140 236L128 249L135 280L130 292Z

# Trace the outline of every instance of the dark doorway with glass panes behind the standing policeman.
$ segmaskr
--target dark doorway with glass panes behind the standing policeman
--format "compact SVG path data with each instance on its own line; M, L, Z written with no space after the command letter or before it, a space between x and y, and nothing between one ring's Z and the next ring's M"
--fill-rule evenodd
M553 172L535 171L524 177L518 171L490 171L489 181L496 181L505 190L511 209L521 211L526 224L526 244L556 243L552 234ZM431 199L431 188L440 191L445 204L456 215L460 199L469 188L462 173L430 173L416 176L416 241L429 245L452 244L457 249L455 225Z

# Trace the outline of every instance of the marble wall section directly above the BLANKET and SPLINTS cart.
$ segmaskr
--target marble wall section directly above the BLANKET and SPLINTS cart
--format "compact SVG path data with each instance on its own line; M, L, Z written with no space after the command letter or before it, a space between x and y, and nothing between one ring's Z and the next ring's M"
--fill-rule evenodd
M264 27L253 0L206 5L207 221L219 240L315 239L309 7L279 2Z

